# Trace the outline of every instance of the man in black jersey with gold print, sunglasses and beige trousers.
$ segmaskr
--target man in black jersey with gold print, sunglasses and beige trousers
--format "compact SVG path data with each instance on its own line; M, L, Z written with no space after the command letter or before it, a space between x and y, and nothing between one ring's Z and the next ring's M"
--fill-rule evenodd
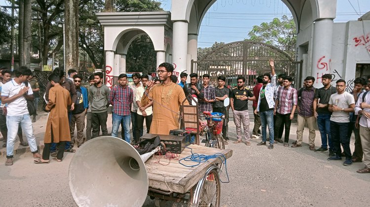
M235 144L242 142L242 125L244 127L245 144L251 145L251 137L249 135L249 114L248 114L248 100L255 100L256 97L253 93L244 87L245 78L238 77L237 87L231 90L230 104L231 110L234 115L234 123L236 127L236 138L238 139Z

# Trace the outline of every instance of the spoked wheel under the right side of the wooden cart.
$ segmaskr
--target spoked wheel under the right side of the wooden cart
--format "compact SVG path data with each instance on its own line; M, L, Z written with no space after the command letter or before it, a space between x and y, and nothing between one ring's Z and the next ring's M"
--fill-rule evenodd
M192 206L220 207L221 182L219 168L212 165L196 186Z

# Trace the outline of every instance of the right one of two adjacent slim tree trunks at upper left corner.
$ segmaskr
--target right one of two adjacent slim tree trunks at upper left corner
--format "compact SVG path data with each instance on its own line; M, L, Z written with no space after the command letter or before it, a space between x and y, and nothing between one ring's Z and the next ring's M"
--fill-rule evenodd
M30 67L31 63L31 15L32 15L32 0L24 0L24 16L23 16L23 54L24 54L24 63L27 67Z

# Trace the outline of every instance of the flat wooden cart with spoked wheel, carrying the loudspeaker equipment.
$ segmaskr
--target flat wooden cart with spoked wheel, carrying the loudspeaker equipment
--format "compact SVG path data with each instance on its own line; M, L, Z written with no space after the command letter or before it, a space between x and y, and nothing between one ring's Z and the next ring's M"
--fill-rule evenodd
M207 148L199 145L188 146L193 153L214 155L222 153L225 158L232 155L231 149ZM180 154L181 158L191 155L191 150L185 148ZM164 166L155 163L155 159L149 158L146 162L149 189L148 195L155 199L155 206L160 207L166 201L174 201L189 204L192 207L220 206L221 182L219 173L222 161L212 158L194 167L185 167L177 160ZM168 160L161 159L162 164ZM182 161L185 165L194 165L195 162Z

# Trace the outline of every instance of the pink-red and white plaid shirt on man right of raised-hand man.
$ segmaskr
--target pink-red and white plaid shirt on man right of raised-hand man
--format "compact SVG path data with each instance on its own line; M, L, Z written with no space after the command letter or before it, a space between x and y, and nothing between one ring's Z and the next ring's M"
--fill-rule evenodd
M277 94L277 100L279 100L276 112L279 114L290 114L292 113L293 106L297 105L297 90L293 87L286 89L280 87Z

